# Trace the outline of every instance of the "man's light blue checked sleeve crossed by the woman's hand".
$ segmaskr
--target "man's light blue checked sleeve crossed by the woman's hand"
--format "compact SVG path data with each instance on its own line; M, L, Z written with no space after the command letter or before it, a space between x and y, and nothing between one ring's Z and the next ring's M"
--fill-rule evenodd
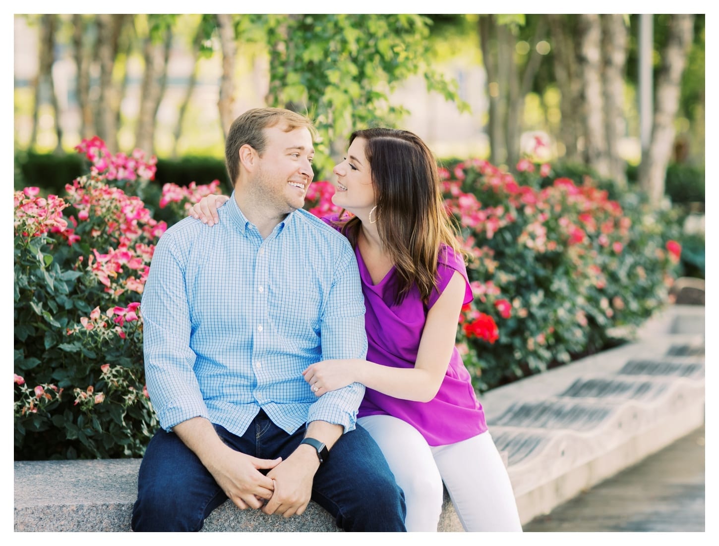
M365 297L359 269L349 243L343 246L321 318L323 360L367 356ZM307 422L326 421L342 425L344 432L354 430L364 395L365 386L360 383L328 392L311 405Z

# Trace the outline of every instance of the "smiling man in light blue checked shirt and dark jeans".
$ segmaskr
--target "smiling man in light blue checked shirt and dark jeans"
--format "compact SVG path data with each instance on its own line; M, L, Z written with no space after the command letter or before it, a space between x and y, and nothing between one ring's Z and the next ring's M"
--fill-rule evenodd
M227 498L284 517L313 499L347 531L405 530L402 491L355 427L365 388L317 399L302 376L367 351L354 253L302 210L311 131L279 108L239 116L219 226L186 218L157 244L141 309L162 430L140 466L135 531L198 531Z

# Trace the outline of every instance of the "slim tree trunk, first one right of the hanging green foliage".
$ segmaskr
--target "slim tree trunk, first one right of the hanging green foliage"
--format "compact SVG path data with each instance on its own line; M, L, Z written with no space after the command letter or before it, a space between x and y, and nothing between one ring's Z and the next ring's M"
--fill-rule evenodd
M489 137L490 137L490 162L493 165L500 165L505 159L506 150L503 149L505 136L500 116L500 83L497 61L493 43L496 44L496 37L492 30L496 29L492 15L480 15L480 47L482 49L482 62L487 72L487 96L489 97Z

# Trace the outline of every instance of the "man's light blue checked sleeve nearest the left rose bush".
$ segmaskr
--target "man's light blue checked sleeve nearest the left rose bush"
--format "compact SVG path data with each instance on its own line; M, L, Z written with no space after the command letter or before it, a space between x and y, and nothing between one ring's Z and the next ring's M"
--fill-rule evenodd
M165 233L155 247L140 306L147 391L160 426L168 431L192 417L209 418L193 371L196 355L190 348L190 311L176 233Z

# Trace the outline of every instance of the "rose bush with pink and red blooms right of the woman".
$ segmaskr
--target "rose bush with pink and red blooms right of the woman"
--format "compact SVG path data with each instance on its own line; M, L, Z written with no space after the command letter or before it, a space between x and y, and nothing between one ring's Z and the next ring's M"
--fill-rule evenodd
M480 160L441 173L473 258L458 343L480 391L618 343L619 327L631 335L667 302L679 261L672 210L631 193L610 200L584 174L546 185L539 165L516 178ZM475 321L490 319L496 333L477 335Z

